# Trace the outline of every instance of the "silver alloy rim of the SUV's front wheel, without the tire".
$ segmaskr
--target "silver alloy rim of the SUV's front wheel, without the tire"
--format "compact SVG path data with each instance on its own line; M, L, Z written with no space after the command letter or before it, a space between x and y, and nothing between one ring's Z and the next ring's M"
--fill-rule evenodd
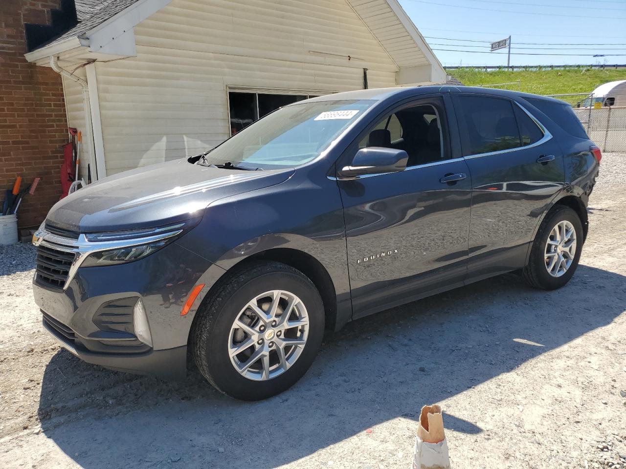
M228 356L240 375L266 381L294 365L309 335L309 316L293 293L272 290L252 298L233 322Z

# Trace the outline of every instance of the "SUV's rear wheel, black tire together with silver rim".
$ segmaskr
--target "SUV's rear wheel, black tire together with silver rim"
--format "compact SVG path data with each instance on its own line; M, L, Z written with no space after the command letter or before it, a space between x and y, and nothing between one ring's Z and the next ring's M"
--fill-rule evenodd
M569 236L568 236L569 235ZM541 223L522 274L528 285L555 290L574 275L583 247L583 226L571 208L557 205Z

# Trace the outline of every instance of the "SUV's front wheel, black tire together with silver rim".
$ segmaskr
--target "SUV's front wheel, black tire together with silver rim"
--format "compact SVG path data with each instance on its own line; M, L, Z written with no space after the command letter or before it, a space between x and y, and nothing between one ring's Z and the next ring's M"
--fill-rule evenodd
M321 348L321 296L290 266L247 266L207 300L198 310L192 356L200 373L228 396L255 401L287 390Z

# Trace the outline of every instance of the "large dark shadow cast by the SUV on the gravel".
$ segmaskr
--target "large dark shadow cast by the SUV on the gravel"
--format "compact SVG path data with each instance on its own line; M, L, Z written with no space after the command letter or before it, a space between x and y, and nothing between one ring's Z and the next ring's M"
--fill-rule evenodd
M367 428L416 420L424 404L605 326L625 299L626 277L588 266L558 291L532 290L515 275L482 281L351 323L327 338L297 385L257 403L220 395L197 373L166 383L61 351L46 368L39 417L46 436L86 468L272 468L359 433L372 445L380 430ZM444 421L482 431L460 415Z

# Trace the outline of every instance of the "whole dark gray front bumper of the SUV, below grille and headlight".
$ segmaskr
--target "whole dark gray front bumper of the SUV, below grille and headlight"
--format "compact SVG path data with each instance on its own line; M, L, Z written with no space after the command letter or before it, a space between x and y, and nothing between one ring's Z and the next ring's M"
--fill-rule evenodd
M38 251L39 254L39 251ZM81 267L58 286L41 281L33 295L44 328L87 363L115 370L181 378L187 373L187 341L203 296L223 269L176 242L138 261ZM206 285L186 315L181 310L195 285ZM151 346L138 340L133 306L143 303Z

